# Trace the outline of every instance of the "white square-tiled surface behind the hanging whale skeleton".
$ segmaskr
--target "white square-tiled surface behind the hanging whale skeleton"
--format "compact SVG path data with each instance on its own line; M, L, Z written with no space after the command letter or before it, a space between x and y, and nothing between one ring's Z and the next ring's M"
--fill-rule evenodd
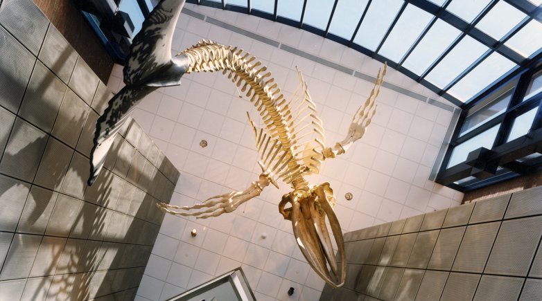
M204 6L186 7L368 75L376 75L382 66L297 28ZM372 88L371 82L188 15L181 15L177 28L175 51L209 37L222 44L241 45L269 65L286 96L295 89L298 66L324 120L327 145L346 134L352 113ZM113 90L120 88L121 75L120 68L114 69L109 82ZM439 100L438 95L392 69L386 80ZM159 89L135 109L134 118L181 172L172 203L189 206L215 194L244 190L258 179L257 154L245 111L252 111L254 121L259 122L252 104L240 99L234 84L220 73L184 75L181 86ZM343 231L459 204L462 194L428 181L451 116L438 107L382 89L367 134L348 154L326 161L321 174L311 177L314 184L331 183ZM202 139L209 143L205 149L199 145ZM288 191L284 184L281 190L267 188L236 212L217 218L167 216L138 298L165 300L242 266L258 300L317 300L324 282L305 262L290 222L278 212L280 197ZM344 199L346 192L353 193L353 200ZM196 237L189 234L193 228L198 230ZM286 295L290 287L295 288L291 298Z

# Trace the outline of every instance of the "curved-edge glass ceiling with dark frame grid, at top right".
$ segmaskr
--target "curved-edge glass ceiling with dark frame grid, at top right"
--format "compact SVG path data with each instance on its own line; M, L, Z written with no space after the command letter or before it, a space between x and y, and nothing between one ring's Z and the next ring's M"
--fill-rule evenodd
M187 2L322 35L388 62L458 106L542 53L542 0Z

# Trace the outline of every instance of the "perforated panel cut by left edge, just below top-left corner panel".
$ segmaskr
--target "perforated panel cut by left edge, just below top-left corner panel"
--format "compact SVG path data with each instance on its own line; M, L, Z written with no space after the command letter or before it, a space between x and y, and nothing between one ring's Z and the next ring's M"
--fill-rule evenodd
M0 26L0 105L17 113L36 58Z

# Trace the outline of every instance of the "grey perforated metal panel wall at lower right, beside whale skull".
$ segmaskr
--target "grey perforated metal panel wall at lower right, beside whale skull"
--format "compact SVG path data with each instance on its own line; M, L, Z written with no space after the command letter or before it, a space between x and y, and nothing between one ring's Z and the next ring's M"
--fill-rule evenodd
M320 300L538 300L541 203L539 186L346 233L348 285Z

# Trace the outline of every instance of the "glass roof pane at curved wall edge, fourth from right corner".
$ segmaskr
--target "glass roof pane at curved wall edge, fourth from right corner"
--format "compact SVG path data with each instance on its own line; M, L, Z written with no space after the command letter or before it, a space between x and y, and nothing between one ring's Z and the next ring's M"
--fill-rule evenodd
M432 17L430 13L408 4L378 54L399 62Z

